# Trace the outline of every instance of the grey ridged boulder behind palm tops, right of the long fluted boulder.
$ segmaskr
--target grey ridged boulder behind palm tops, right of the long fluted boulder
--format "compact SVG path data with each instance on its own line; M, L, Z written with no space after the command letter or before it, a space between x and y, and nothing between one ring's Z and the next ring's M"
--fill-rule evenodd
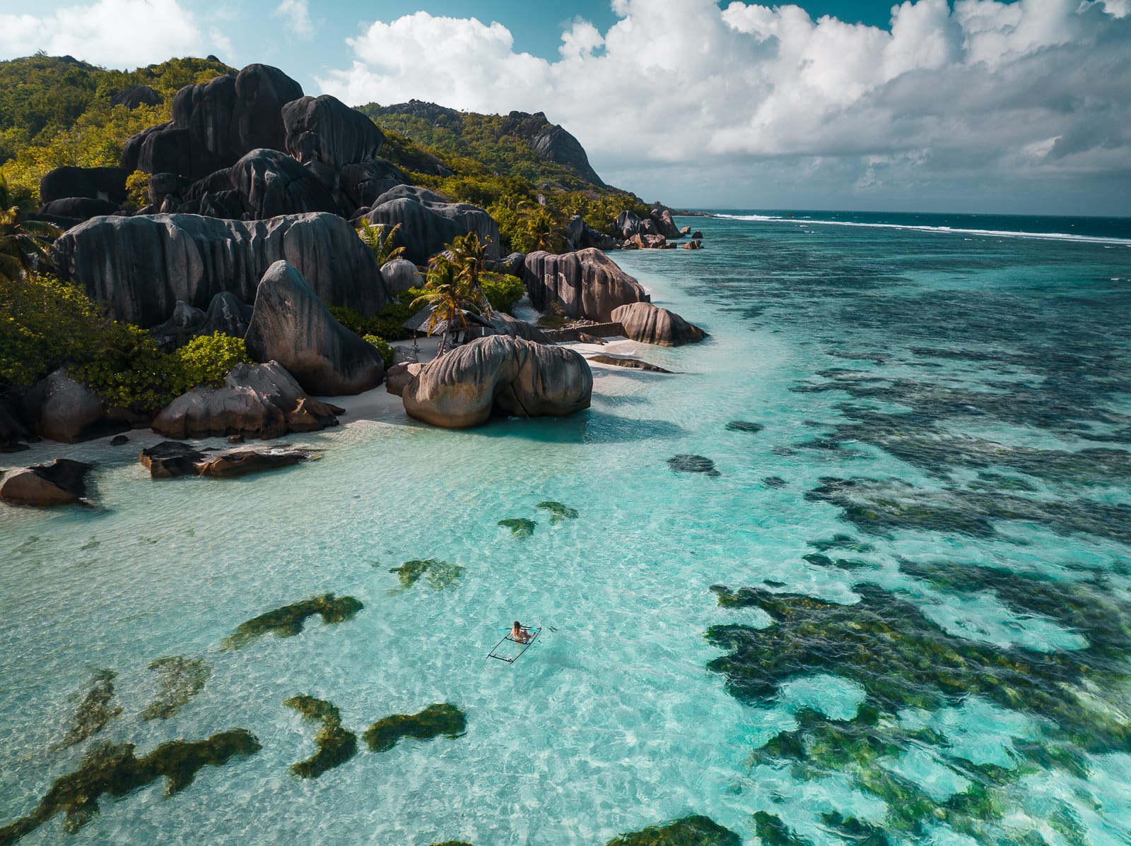
M371 224L400 224L394 243L405 248L404 258L414 264L425 264L452 238L468 233L487 244L487 258L499 258L499 225L486 211L466 202L448 202L428 189L392 187L377 198L372 208L357 212L355 219L363 216Z

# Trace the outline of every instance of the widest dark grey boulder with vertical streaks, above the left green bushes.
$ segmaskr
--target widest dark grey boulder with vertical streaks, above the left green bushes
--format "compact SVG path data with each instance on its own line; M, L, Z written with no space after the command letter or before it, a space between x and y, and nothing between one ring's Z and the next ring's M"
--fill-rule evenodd
M106 303L116 320L141 326L167 320L179 299L204 309L231 291L250 303L264 273L283 259L333 305L372 315L389 300L373 254L336 215L100 217L54 246L61 277Z

